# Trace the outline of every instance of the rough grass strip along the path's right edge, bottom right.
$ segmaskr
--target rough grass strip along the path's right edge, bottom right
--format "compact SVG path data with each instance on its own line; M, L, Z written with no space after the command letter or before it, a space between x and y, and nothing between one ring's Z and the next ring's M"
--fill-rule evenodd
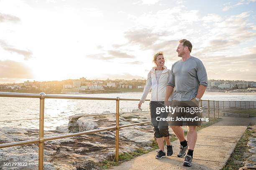
M248 151L249 148L247 146L249 138L253 137L253 135L251 135L252 133L254 133L253 129L246 129L242 138L236 144L236 148L228 159L227 164L224 168L222 168L222 170L238 170L239 168L243 167L242 162L252 155Z

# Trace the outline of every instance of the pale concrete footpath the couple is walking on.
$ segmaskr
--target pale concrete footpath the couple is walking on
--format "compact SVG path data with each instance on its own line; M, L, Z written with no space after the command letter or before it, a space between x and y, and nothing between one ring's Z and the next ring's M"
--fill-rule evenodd
M171 157L156 159L157 150L154 150L113 167L113 170L220 170L230 158L247 126L255 123L252 118L221 118L223 120L215 125L198 131L192 167L182 165L184 158L177 157L179 141L175 140L172 142L174 154Z

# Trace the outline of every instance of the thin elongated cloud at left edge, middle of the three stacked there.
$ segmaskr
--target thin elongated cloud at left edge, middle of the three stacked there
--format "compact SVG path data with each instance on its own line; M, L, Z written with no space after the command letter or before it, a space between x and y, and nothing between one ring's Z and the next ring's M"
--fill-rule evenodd
M23 55L24 56L24 60L29 60L29 59L31 59L32 58L32 54L33 54L33 52L31 51L31 50L20 50L20 49L17 49L17 48L15 48L15 47L13 47L13 46L11 46L11 45L8 45L5 41L3 41L3 40L0 40L0 46L4 49L4 50L6 50L6 51L8 51L8 52L10 52L10 53L17 53L17 54L19 54L19 55Z

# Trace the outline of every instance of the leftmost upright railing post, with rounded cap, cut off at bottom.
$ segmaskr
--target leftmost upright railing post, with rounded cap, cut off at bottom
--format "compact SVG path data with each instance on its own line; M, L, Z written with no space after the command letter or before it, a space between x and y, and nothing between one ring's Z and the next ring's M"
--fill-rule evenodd
M38 170L44 170L44 98L46 94L40 93L40 113L39 113L39 151Z

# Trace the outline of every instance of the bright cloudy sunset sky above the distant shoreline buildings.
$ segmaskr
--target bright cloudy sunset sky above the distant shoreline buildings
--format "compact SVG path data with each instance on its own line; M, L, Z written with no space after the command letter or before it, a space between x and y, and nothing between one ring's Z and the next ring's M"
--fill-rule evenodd
M0 83L146 78L181 39L208 79L256 81L256 0L0 0Z

